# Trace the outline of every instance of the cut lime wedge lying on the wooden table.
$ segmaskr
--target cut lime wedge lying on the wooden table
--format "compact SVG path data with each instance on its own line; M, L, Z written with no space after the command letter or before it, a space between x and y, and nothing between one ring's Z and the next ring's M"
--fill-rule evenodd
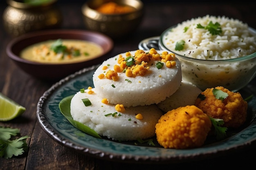
M9 121L20 116L26 110L12 99L0 93L0 121Z

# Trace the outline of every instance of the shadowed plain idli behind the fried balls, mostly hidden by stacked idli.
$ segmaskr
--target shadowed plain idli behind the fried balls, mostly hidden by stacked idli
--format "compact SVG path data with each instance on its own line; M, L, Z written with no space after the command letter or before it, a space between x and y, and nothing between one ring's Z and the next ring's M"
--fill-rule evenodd
M157 104L157 106L164 112L168 112L178 107L194 105L195 99L201 92L197 86L182 80L180 88L173 95Z

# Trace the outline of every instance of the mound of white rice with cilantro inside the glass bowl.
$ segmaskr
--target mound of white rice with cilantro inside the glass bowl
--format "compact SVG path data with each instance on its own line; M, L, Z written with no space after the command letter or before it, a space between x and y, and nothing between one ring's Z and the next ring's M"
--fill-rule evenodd
M220 24L220 35L197 28L197 24L207 26L210 21ZM188 29L184 31L184 28ZM256 33L252 33L246 23L225 16L206 15L186 20L173 27L162 40L169 50L202 60L224 60L256 52ZM185 41L184 49L177 51L175 45L180 40Z

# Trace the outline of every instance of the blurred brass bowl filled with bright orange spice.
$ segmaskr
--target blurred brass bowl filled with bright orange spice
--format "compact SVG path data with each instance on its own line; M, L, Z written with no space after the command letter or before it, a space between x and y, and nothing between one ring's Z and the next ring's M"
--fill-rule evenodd
M121 38L135 31L144 14L140 0L89 0L82 6L87 29L111 38Z

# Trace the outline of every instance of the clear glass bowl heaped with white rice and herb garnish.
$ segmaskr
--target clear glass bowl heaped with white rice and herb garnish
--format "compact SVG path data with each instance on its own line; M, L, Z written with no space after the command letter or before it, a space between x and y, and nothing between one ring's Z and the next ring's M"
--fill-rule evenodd
M181 40L184 46L175 50ZM236 19L206 15L186 20L162 33L159 47L178 54L182 79L202 91L215 86L238 91L256 75L256 31Z

